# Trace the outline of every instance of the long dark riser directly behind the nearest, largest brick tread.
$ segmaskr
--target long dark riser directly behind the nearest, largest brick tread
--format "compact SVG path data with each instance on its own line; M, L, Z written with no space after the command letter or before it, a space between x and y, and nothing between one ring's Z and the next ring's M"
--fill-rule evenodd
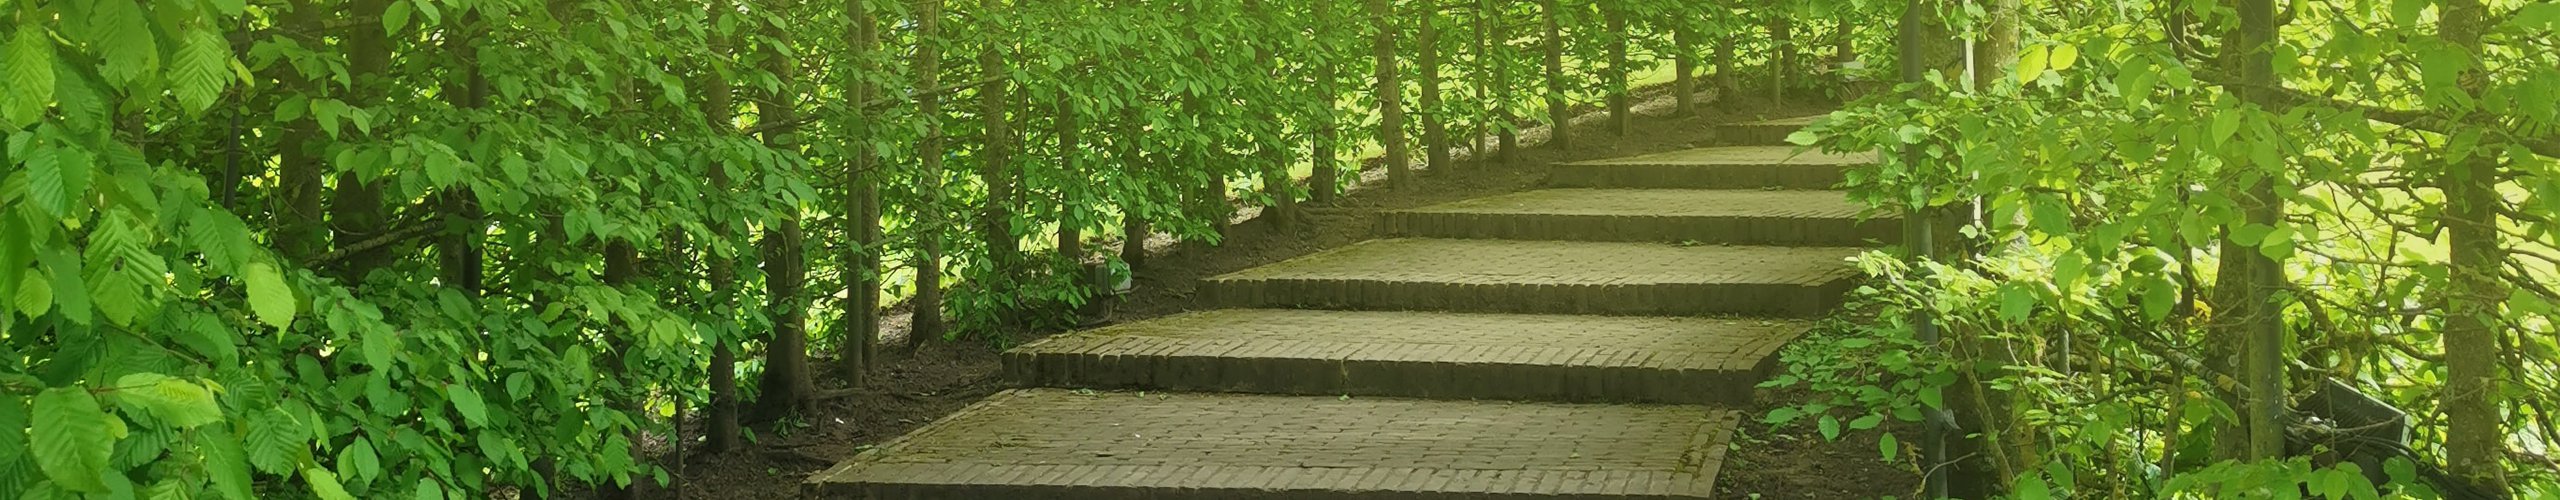
M1774 344L1751 351L1774 351ZM1021 387L1196 390L1257 395L1370 395L1441 400L1541 403L1669 403L1751 405L1751 387L1777 369L1761 356L1751 369L1608 367L1610 354L1539 349L1554 364L1388 362L1464 359L1449 346L1403 346L1411 354L1362 351L1364 359L1300 356L1108 356L1009 351L1004 374ZM1516 351L1513 351L1516 354ZM1385 359L1380 359L1385 356ZM1516 359L1516 356L1505 356Z

